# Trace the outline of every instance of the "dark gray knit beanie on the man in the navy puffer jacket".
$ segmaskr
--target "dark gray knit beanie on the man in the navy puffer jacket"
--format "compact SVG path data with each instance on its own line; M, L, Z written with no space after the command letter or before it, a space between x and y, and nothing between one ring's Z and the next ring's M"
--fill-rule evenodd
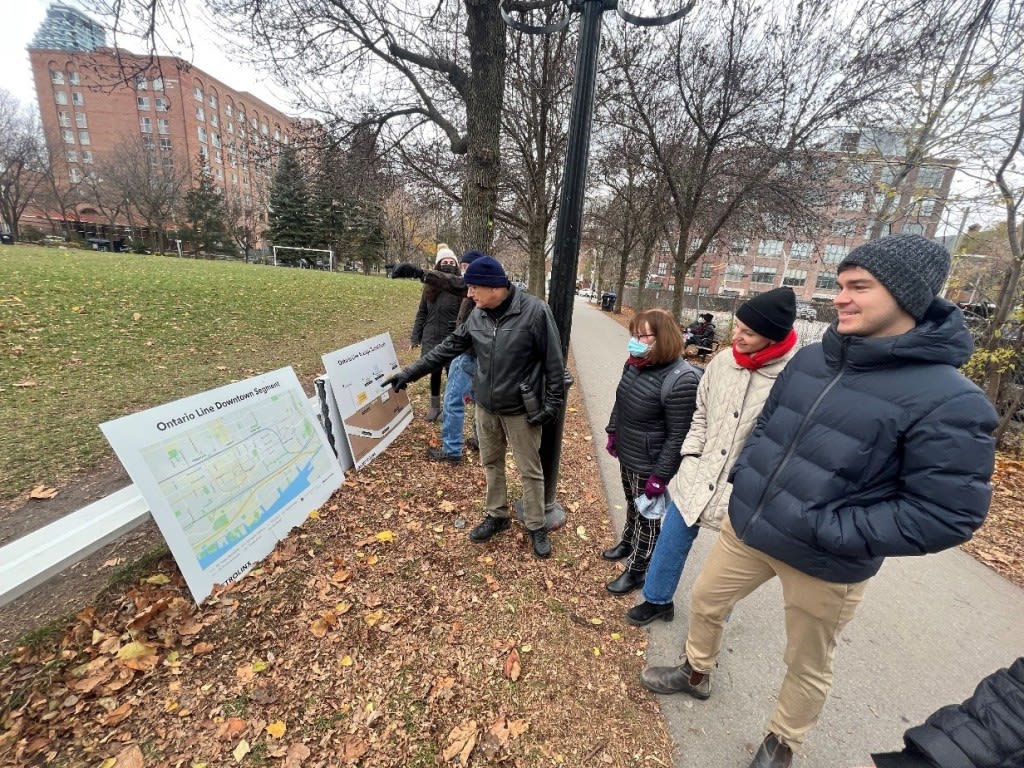
M860 266L920 321L949 275L949 251L920 234L890 234L854 248L837 271Z

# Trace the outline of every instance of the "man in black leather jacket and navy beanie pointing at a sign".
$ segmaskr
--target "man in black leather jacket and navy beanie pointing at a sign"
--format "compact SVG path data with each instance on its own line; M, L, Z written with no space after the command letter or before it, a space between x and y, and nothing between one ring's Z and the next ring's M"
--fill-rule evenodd
M486 514L469 539L482 544L511 524L505 479L505 454L511 447L534 554L550 557L540 452L543 425L558 417L565 401L565 365L555 319L545 302L509 283L490 256L473 261L464 279L476 304L466 322L382 385L403 389L464 352L476 355L473 392L487 489Z

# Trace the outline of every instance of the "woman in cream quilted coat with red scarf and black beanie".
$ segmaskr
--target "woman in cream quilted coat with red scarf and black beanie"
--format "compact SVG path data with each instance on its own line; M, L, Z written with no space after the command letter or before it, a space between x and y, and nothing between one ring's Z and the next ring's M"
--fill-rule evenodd
M669 482L671 502L643 586L644 601L626 620L644 627L671 622L673 596L701 525L718 530L729 508L729 470L754 429L768 391L796 351L796 296L776 288L736 310L732 348L708 364L697 387L679 471Z

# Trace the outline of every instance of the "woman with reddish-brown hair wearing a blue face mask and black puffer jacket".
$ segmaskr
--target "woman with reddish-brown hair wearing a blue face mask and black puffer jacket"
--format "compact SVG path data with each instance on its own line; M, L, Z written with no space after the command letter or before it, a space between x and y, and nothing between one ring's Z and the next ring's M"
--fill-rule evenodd
M630 322L629 356L605 427L605 449L618 459L626 495L622 541L602 553L606 560L625 560L626 570L607 585L614 595L643 586L662 529L660 497L679 469L679 450L690 427L698 382L692 370L673 374L682 350L679 326L664 309L639 312ZM664 391L670 375L674 378Z

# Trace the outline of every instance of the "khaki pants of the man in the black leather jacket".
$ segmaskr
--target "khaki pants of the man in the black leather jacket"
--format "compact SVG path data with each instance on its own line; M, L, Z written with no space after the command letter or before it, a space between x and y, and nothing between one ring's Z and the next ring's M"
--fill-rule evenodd
M526 416L502 416L482 408L476 409L477 439L480 441L480 464L487 478L484 501L490 517L508 517L508 486L505 481L505 452L511 446L512 458L519 468L522 481L523 519L529 530L545 526L544 468L541 466L541 434L543 427L526 422Z

